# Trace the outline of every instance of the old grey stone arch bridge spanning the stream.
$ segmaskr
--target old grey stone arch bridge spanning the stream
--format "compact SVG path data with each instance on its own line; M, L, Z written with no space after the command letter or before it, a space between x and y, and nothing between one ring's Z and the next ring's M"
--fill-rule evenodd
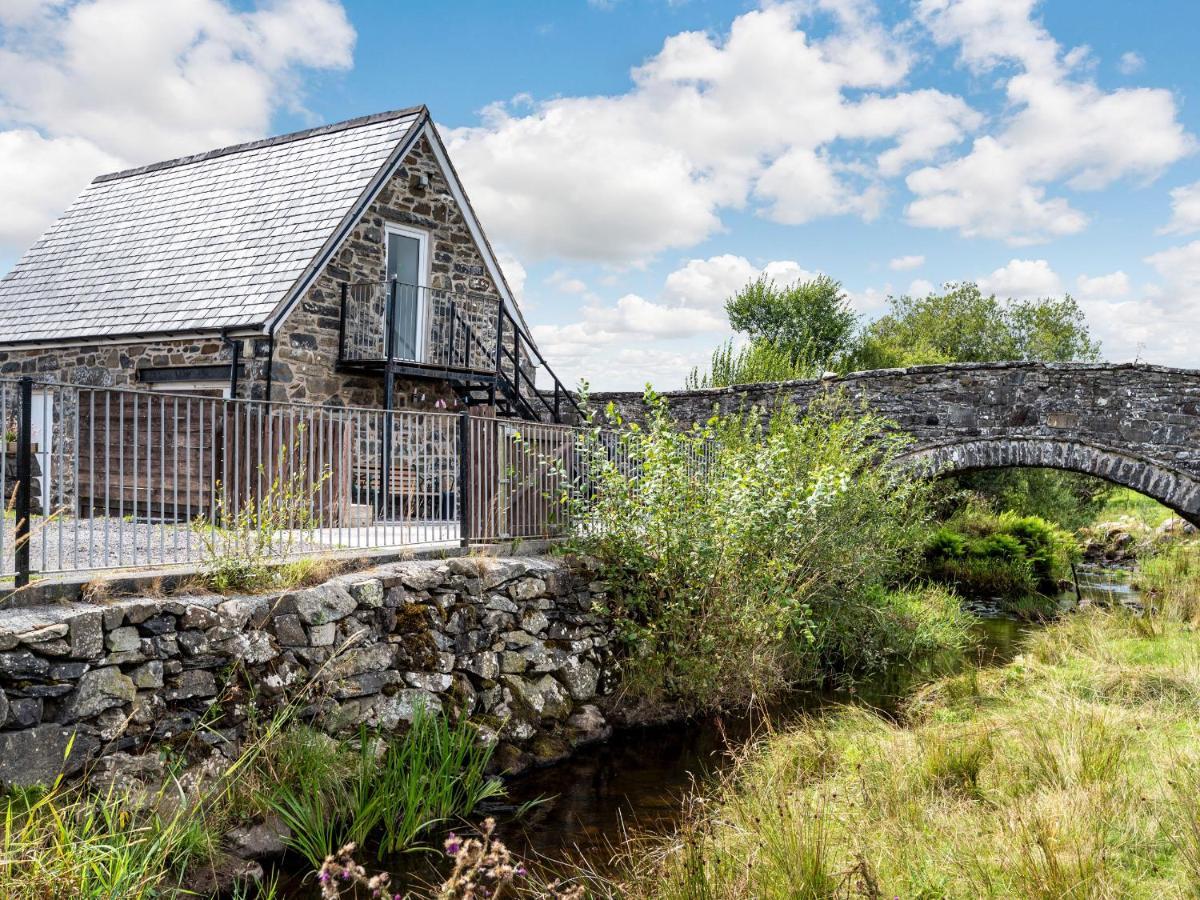
M842 391L912 434L905 460L941 475L1068 469L1132 487L1200 523L1200 371L1140 364L973 362L856 372L664 397L677 419ZM644 418L641 394L594 394Z

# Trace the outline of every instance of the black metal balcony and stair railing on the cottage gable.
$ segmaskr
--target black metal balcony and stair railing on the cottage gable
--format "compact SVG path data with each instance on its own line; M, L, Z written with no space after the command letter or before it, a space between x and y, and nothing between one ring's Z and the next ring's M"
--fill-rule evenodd
M404 284L342 284L338 361L420 367L486 384L490 402L530 420L582 421L583 412L546 360L494 298ZM536 385L541 368L553 383Z

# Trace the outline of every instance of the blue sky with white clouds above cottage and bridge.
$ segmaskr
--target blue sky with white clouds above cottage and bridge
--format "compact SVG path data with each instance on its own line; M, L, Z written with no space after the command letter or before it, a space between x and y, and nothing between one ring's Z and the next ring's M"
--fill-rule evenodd
M677 386L766 270L1069 292L1198 366L1200 4L4 0L0 265L97 172L413 103L551 364Z

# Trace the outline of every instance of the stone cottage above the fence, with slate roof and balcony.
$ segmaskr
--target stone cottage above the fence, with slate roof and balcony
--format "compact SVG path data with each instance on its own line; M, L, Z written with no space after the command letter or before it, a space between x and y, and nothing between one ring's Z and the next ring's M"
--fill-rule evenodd
M0 281L0 376L20 374L538 420L571 403L425 107L97 178Z

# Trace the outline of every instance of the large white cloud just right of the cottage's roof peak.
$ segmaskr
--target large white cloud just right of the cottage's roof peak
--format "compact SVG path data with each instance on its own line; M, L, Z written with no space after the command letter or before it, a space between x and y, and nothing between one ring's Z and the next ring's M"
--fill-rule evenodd
M822 7L833 28L805 30ZM878 214L882 181L961 140L980 116L902 90L905 43L848 2L780 2L721 38L668 37L624 94L518 97L446 137L490 227L535 257L630 265L752 206L787 223Z

